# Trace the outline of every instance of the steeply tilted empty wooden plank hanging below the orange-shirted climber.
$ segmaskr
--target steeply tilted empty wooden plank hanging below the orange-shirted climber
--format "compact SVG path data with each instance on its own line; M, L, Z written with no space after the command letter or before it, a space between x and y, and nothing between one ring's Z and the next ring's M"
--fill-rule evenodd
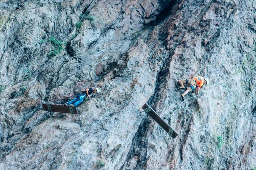
M176 133L176 131L174 131L172 127L170 127L170 125L168 125L168 123L166 123L164 119L156 113L156 111L148 106L148 104L145 103L144 106L142 106L142 109L144 109L144 111L150 115L150 117L152 117L152 119L154 119L154 121L156 121L156 123L158 123L158 125L160 125L172 138L178 136L178 133Z

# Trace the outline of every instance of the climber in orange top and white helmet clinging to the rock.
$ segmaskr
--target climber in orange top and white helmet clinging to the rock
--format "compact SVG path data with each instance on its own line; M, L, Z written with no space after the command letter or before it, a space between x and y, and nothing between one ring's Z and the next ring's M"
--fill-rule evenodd
M184 101L184 96L192 90L195 90L196 95L198 95L200 88L202 88L204 84L207 84L207 82L209 82L209 80L207 78L203 78L202 76L195 76L193 78L178 80L177 84L180 84L179 89L184 89L184 84L188 85L187 90L181 95L182 100Z

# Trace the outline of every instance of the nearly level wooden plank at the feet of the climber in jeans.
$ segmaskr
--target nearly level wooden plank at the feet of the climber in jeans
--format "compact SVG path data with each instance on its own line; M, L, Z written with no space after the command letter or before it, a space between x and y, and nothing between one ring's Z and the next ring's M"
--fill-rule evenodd
M74 106L64 106L56 104L42 104L42 106L44 111L78 114L76 111L76 107Z

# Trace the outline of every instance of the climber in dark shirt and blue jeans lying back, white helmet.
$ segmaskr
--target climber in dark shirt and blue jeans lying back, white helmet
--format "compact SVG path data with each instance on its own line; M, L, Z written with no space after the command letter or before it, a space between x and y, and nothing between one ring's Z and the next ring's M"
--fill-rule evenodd
M76 98L65 103L64 106L75 106L76 107L79 104L81 104L87 97L90 98L90 94L92 94L92 93L99 94L100 89L99 88L94 88L94 89L86 88L84 91L82 91L81 94L78 94L76 96Z

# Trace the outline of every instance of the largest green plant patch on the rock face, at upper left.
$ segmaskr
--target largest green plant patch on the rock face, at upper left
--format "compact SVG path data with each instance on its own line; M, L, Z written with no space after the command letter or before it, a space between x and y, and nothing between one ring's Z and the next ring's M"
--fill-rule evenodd
M57 40L55 37L51 36L49 39L41 39L39 43L49 42L52 45L52 50L48 52L48 57L54 57L57 54L61 53L63 50L63 42L61 40Z

